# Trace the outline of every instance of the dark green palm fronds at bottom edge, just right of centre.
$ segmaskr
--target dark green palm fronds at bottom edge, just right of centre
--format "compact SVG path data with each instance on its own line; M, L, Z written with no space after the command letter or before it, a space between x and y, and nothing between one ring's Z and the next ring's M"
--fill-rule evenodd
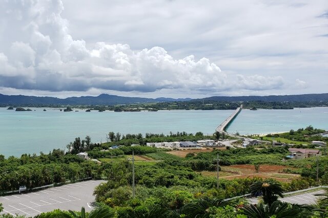
M219 207L223 206L225 202L222 199L211 199L209 197L204 197L192 201L182 208L183 214L186 214L187 217L209 217L209 208L210 207Z

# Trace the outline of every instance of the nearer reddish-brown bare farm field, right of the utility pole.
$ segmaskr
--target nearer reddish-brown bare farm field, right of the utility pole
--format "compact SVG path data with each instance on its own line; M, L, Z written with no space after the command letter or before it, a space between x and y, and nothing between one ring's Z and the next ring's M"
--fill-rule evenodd
M299 177L298 174L283 173L284 168L292 168L286 166L277 165L260 165L259 171L255 171L254 165L242 164L242 165L231 165L221 166L219 176L221 179L233 180L233 179L244 179L244 178L271 178L281 182L288 182L295 177ZM216 177L216 171L201 171L202 176L213 176Z

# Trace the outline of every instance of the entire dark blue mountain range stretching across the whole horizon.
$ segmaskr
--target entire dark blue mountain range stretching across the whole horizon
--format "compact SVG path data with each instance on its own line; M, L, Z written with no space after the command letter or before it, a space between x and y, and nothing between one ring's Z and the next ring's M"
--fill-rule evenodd
M264 102L308 102L308 101L328 101L328 93L304 94L304 95L270 95L270 96L212 96L203 99L191 98L140 98L123 97L117 95L101 94L99 96L81 96L69 98L37 97L25 95L3 95L0 94L0 104L23 105L23 104L53 104L53 105L115 105L131 103L149 102L170 102L170 101L191 101L191 100L211 100L211 101L264 101Z

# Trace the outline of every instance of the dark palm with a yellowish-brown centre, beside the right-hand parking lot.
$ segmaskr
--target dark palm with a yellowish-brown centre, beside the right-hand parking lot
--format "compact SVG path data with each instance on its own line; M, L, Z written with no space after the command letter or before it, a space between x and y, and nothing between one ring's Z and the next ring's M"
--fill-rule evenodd
M268 204L269 206L277 201L278 196L283 198L281 185L272 181L256 181L250 186L250 189L253 195L263 194L264 204Z

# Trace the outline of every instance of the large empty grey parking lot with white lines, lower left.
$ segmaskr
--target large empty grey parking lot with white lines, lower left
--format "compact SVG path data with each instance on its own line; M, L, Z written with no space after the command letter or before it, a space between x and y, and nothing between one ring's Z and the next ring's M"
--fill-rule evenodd
M29 217L54 209L80 211L81 207L90 211L91 203L94 202L93 190L102 182L106 181L88 180L35 192L2 196L0 202L4 211L0 214L10 213Z

